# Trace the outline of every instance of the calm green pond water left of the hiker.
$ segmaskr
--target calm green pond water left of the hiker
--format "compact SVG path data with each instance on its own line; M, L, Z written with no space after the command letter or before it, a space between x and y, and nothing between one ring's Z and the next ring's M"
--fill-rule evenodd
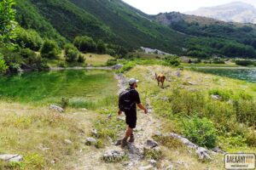
M25 103L55 103L62 98L96 101L116 94L111 71L31 72L0 78L2 99Z

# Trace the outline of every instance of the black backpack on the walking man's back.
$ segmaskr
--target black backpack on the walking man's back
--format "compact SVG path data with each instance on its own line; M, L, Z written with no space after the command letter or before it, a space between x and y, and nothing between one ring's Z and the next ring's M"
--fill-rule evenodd
M131 101L131 91L132 88L127 88L125 91L119 94L119 110L120 111L130 111L131 107L135 105L136 102Z

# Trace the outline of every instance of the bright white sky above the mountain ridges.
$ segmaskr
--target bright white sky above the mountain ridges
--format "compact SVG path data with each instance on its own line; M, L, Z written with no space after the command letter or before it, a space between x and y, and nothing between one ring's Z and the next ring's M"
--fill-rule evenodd
M201 7L212 7L224 3L244 2L256 7L256 0L123 0L131 6L142 10L146 14L164 12L188 12Z

